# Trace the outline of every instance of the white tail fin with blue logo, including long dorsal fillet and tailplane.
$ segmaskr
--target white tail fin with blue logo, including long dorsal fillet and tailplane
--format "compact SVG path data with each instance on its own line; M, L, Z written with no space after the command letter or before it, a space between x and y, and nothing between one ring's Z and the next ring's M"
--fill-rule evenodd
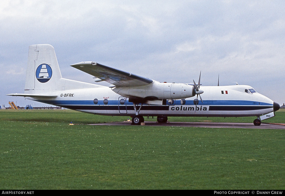
M76 88L96 88L100 85L64 79L61 76L54 47L37 44L29 47L25 94L30 97L54 97L50 92ZM11 94L24 96L25 94ZM33 96L31 96L33 94ZM47 94L50 94L50 96Z

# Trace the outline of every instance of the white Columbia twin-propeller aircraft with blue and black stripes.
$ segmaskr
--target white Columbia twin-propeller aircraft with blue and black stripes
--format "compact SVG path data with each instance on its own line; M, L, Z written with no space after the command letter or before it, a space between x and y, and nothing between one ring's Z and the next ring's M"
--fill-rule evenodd
M280 108L247 85L200 86L200 78L198 84L160 83L92 61L71 66L111 85L62 78L54 48L38 44L29 47L25 94L8 95L91 114L131 116L135 125L143 116L157 116L159 123L168 116L257 116L253 123L260 125Z

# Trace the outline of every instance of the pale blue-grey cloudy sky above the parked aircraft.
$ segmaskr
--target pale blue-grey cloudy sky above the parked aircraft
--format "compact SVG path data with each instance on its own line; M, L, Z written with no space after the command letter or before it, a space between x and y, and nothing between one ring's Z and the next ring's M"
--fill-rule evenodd
M62 77L95 61L160 82L247 84L285 102L285 1L0 1L0 105L23 97L28 47L54 47ZM105 82L96 84L107 86Z

